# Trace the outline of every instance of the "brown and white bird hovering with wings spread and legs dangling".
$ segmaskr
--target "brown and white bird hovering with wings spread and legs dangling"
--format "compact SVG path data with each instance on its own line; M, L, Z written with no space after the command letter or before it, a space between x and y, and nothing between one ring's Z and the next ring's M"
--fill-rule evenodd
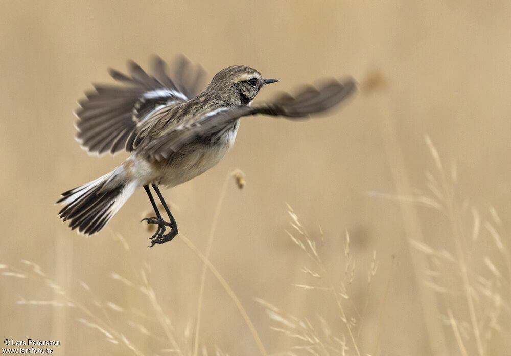
M205 71L184 56L175 60L171 75L159 56L152 58L151 74L134 61L128 61L127 67L129 75L109 69L121 85L92 84L94 89L78 101L75 126L76 139L89 154L125 150L131 155L111 172L62 193L57 203L63 208L58 214L72 230L96 234L143 187L156 215L142 220L157 226L149 247L178 234L159 186L172 188L215 166L233 146L240 118L263 114L305 119L356 91L353 78L330 78L318 87L305 85L294 96L281 93L252 105L263 87L278 80L265 78L249 66L222 69L201 92ZM159 212L150 186L168 220Z

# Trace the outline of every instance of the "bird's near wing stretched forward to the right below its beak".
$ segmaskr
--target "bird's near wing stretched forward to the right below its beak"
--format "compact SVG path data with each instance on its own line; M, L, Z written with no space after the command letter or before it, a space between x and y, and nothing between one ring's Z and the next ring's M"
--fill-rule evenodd
M161 161L197 137L221 132L242 116L266 114L283 116L290 120L304 119L310 114L324 112L339 104L354 93L355 89L356 84L352 78L342 81L330 79L318 88L306 86L294 97L284 93L266 104L216 108L187 123L169 126L156 139L146 141L141 147L137 147L137 150Z

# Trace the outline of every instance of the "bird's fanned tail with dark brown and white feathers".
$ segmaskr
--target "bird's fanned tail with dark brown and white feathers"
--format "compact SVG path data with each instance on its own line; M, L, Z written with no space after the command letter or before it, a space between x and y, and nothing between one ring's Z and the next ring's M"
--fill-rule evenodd
M119 167L97 180L62 193L57 201L64 205L59 217L69 221L71 230L78 229L84 235L95 234L121 209L136 187Z

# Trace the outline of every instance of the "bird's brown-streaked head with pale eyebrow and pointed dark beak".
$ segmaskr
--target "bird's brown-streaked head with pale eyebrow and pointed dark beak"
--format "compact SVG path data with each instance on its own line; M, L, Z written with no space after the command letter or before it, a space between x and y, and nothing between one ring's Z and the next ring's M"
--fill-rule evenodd
M215 74L206 92L231 105L250 105L264 85L277 81L263 78L261 73L248 66L233 65Z

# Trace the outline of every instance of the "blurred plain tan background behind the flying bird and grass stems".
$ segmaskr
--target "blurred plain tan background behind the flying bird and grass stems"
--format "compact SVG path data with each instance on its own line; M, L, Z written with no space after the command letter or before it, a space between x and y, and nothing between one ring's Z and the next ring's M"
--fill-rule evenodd
M429 323L436 326L427 331L421 293L435 294L424 291L424 256L413 257L408 243L423 238L452 251L448 222L430 209L367 192L426 189L425 171L434 170L424 142L427 133L446 166L456 162L460 201L467 198L477 206L482 219L495 207L502 229L509 227L510 13L508 1L3 2L0 264L21 270L27 267L21 259L39 264L139 352L172 354L154 314L137 319L150 330L145 335L129 325L135 317L94 305L94 300L111 301L125 309L151 310L147 298L109 277L113 271L135 280L146 263L150 285L188 354L202 262L177 238L147 248L150 233L138 222L150 208L144 191L137 191L96 236L79 236L57 217L59 207L53 203L62 191L103 175L126 157L98 159L80 149L74 140L76 100L91 82L112 82L109 66L124 71L125 61L133 59L147 68L151 54L171 61L184 53L204 66L208 80L233 64L280 80L256 100L322 77L352 75L364 84L371 75L381 76L384 83L375 91L362 91L342 110L321 118L300 123L244 119L234 148L220 164L164 195L179 208L174 216L180 233L204 252L225 177L235 168L245 173L243 190L229 181L210 259L246 308L268 354L285 352L297 340L271 330L265 308L254 297L316 324L317 315L328 317L332 332L340 339L346 333L331 296L292 286L310 282L300 271L309 264L284 231L290 229L286 203L311 237L318 238L321 226L326 246L320 252L339 280L345 231L350 233L357 260L356 282L346 301L350 314L357 316L355 307L363 309L368 294L362 326L357 316L361 354L460 354L444 322L442 296L433 298L440 314L430 315ZM467 225L471 228L470 221ZM112 239L114 233L126 239L129 252ZM503 241L509 246L505 236ZM374 250L379 268L367 291ZM495 256L496 268L505 271L495 249L486 250ZM474 268L487 272L484 266ZM56 354L131 353L77 321L90 319L77 308L17 304L22 298L61 298L42 279L0 277L4 339L61 340ZM469 320L462 310L460 315ZM503 325L486 346L487 354L509 352L509 310L504 308L499 318ZM231 355L259 354L246 323L211 273L199 335L200 347L210 354L216 347ZM442 345L432 346L431 338ZM470 333L466 340L468 354L480 354ZM349 354L356 354L348 346ZM330 353L337 354L318 352Z

